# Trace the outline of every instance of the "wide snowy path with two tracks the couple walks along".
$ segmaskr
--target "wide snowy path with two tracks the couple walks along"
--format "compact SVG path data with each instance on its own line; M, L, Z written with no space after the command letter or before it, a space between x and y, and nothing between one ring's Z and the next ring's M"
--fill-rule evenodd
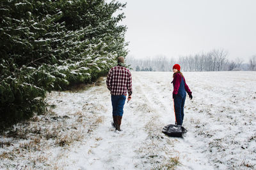
M161 132L164 125L175 121L170 99L172 74L154 74L132 73L134 94L132 101L125 103L124 132L120 134L111 127L111 102L106 86L97 87L97 93L90 94L95 97L93 103L107 108L97 115L104 117L104 123L89 140L85 139L84 145L68 153L73 164L67 169L163 169L176 167L177 162L181 162L178 169L212 169L205 155L192 148L188 139L168 138ZM187 135L191 136L189 132Z

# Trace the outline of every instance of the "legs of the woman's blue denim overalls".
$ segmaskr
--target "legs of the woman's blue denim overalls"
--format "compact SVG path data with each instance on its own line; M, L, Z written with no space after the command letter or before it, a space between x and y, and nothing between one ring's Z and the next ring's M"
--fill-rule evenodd
M182 125L184 118L184 104L186 100L186 95L184 97L179 96L179 94L174 99L174 111L177 125Z

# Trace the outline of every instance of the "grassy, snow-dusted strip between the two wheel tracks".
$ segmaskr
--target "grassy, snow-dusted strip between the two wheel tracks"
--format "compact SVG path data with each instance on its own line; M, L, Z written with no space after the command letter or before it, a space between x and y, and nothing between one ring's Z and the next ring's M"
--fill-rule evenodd
M137 165L140 169L168 169L175 168L177 157L173 150L172 141L166 138L164 134L159 131L159 126L163 127L163 123L159 121L159 110L155 102L160 101L155 99L154 102L150 96L154 96L154 90L147 86L147 81L141 80L141 76L135 75L136 85L140 87L139 94L143 96L143 101L150 108L150 113L144 110L148 120L145 122L143 129L147 132L147 138L141 143L140 148L136 150L140 164ZM143 83L141 83L143 82ZM150 94L150 95L149 95ZM172 151L172 152L170 152Z

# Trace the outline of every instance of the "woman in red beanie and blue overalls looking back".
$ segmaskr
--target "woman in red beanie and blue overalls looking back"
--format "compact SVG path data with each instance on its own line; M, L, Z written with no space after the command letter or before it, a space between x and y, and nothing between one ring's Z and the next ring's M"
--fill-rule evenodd
M186 100L186 92L189 95L189 99L192 99L192 92L190 91L183 74L180 72L180 65L175 64L173 66L173 92L172 97L174 101L175 112L175 124L182 125L184 118L184 104ZM182 128L183 131L186 129Z

